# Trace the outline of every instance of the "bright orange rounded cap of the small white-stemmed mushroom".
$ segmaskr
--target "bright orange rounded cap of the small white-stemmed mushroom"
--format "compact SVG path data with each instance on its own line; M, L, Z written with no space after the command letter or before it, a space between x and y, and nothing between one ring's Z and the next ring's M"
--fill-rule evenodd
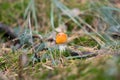
M64 44L67 42L67 34L60 32L56 35L56 44Z

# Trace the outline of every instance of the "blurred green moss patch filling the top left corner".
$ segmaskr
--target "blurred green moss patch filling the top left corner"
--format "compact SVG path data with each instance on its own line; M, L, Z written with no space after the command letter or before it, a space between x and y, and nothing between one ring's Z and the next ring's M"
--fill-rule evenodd
M23 1L2 1L0 4L0 22L4 24L16 23L16 18L23 16L28 0ZM16 15L17 14L17 15Z

